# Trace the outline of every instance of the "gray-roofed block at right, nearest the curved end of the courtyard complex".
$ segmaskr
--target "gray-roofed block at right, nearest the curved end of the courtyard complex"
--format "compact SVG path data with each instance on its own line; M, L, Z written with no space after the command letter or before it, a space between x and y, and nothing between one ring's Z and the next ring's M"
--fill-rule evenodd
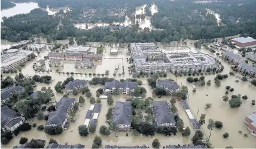
M243 60L242 57L239 57L239 55L236 55L230 51L223 53L222 57L224 60L228 61L228 63L234 64L234 65L238 65L238 64L242 63L243 61L245 61L245 60Z

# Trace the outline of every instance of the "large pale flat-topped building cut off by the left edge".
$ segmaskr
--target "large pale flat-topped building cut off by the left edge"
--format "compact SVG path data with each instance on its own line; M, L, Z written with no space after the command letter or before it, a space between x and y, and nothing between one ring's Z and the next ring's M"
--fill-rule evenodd
M1 55L1 72L9 71L19 67L20 64L28 61L28 56L33 54L32 51L22 49L9 49L7 54Z

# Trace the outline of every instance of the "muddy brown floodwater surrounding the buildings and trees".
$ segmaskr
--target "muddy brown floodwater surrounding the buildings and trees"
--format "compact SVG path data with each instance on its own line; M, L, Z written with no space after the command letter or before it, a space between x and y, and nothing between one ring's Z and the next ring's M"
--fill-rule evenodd
M65 43L63 41L60 41L62 43ZM89 43L90 45L97 46L99 43L93 42ZM193 46L190 45L189 46ZM74 65L72 64L73 61L65 61L64 68L60 68L60 72L82 72L82 73L105 73L106 70L109 70L109 77L114 77L115 79L126 79L129 77L132 77L132 75L129 75L127 67L129 67L129 63L126 61L126 55L125 54L118 54L116 56L110 55L109 51L110 48L105 48L106 52L103 53L103 60L96 62L97 67L96 69L75 69ZM125 49L124 49L125 50ZM205 52L208 53L208 51L205 51L205 49L201 49L199 52ZM48 54L48 51L41 51L41 54L39 54L38 58L36 60L44 58L45 55ZM215 55L211 54L215 57ZM117 58L117 59L111 59L111 58ZM218 58L220 60L220 58ZM33 63L35 63L36 60L29 61L26 63L26 66L23 67L22 73L23 75L50 75L53 78L53 83L42 84L42 83L36 83L38 85L35 90L40 90L42 86L50 86L55 95L55 98L57 101L60 100L60 97L62 97L62 94L56 93L54 90L54 85L58 81L63 81L66 79L66 77L73 76L75 79L85 79L85 80L91 80L93 76L89 75L66 75L66 74L59 74L55 73L55 70L57 67L51 67L53 72L50 73L42 73L42 72L34 72L32 69ZM223 74L228 74L230 72L230 66L225 63L223 60L220 60L221 63L223 63L225 69ZM124 72L125 75L121 76L113 76L115 66L117 64L120 64L120 73L121 73L121 66L124 66ZM118 72L119 73L119 72ZM15 74L3 74L5 76L12 76L14 77ZM238 74L237 74L238 75ZM97 76L97 75L96 75ZM96 77L95 76L95 77ZM197 110L199 110L197 119L199 119L199 116L201 113L206 114L206 124L203 125L203 131L205 132L206 136L209 136L209 130L207 129L208 119L214 119L214 120L220 120L223 122L224 126L222 129L214 129L212 131L211 135L211 143L214 145L215 148L225 148L227 146L232 146L234 148L255 148L256 147L256 138L249 134L248 138L245 138L243 134L239 134L239 130L243 131L243 133L248 134L247 126L245 123L243 123L243 120L246 116L249 114L252 114L252 112L256 111L256 107L251 105L251 100L255 100L256 95L256 87L252 86L249 82L242 82L239 83L234 82L236 80L236 77L229 76L228 79L221 81L220 88L216 88L214 86L214 77L216 75L206 75L205 79L212 80L211 86L196 86L197 92L192 92L192 83L187 83L186 79L187 76L183 77L175 77L173 74L168 73L167 78L172 78L174 80L177 80L179 85L187 85L188 86L188 92L189 92L189 99L188 103L190 104L191 109L193 110L194 115L197 115ZM100 76L101 77L101 76ZM196 77L196 76L195 76ZM152 89L149 88L147 85L147 77L139 78L142 80L142 85L145 89L147 89L147 97L152 97ZM229 92L228 97L231 98L231 95L233 94L241 94L241 95L247 95L248 100L243 101L242 106L239 108L230 108L228 103L224 103L221 97L223 97L225 92L225 86L230 85L231 88L234 88L234 92ZM93 97L96 97L96 90L97 88L102 88L101 85L96 86L89 86ZM208 94L208 96L206 96ZM75 96L77 98L80 97L81 93ZM74 95L70 95L70 97L74 97ZM124 101L123 95L113 96L114 101ZM160 100L167 100L169 101L172 97L163 97L163 98L157 98L153 97L155 101ZM205 110L205 104L211 103L212 108L209 108L208 110ZM39 138L39 139L46 139L47 141L50 138L54 138L59 142L59 144L65 144L65 142L68 142L68 144L84 144L87 148L92 147L93 139L95 135L99 134L99 128L102 125L108 126L107 123L105 123L105 114L109 107L113 107L114 105L108 105L106 103L106 100L102 100L102 110L100 111L97 128L95 134L90 134L89 136L82 137L78 134L78 126L83 125L86 112L89 110L90 102L89 98L86 98L86 103L83 107L80 107L80 111L77 112L75 118L77 119L77 122L71 123L69 126L69 129L63 131L61 135L56 136L50 136L45 134L43 131L38 131L36 128L32 128L31 131L28 132L21 132L18 136L14 136L14 138L9 142L7 145L1 145L2 148L12 148L14 145L19 145L19 140L22 136L26 136L29 139L32 138ZM132 133L129 132L129 136L126 136L125 132L120 132L118 137L115 137L115 134L111 134L109 136L103 136L100 135L103 142L102 147L105 145L126 145L126 146L132 146L132 145L147 145L148 147L151 147L151 144L153 142L153 139L158 138L161 142L161 145L169 145L169 144L191 144L191 137L194 135L193 127L191 126L187 115L185 114L185 111L182 109L181 105L179 103L176 103L176 107L179 110L179 116L182 120L184 120L184 126L190 127L191 129L191 135L188 137L182 137L180 133L178 133L176 136L163 136L161 134L157 134L154 136L154 138L146 137L146 136L135 136ZM45 120L42 120L39 122L36 119L33 119L38 125L44 125ZM32 122L32 120L29 120L29 122ZM73 130L73 132L71 132ZM228 132L230 135L229 138L224 139L223 134L225 132ZM26 135L27 134L27 135ZM48 142L47 142L48 144Z

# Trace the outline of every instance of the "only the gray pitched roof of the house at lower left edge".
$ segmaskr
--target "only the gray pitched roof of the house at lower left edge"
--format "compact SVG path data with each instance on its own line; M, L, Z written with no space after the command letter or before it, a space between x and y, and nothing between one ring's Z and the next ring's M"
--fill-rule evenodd
M20 121L22 121L22 116L19 113L10 109L7 105L1 107L1 127L11 128Z

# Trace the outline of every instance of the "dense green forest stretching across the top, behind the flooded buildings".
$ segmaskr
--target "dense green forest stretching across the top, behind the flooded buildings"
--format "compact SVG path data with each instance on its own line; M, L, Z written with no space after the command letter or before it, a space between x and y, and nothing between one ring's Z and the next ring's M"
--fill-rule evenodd
M73 25L73 23L83 21L91 23L123 21L126 15L135 16L135 8L143 4L148 5L145 15L151 15L149 6L153 2L157 5L159 13L151 16L151 23L156 29L161 30L141 29L136 23L129 27L107 26L94 27L90 30L79 30ZM1 39L16 42L29 39L32 35L38 35L50 41L74 36L81 44L87 41L163 42L167 44L181 39L220 38L239 33L242 36L256 38L255 0L234 0L232 2L223 0L208 4L195 4L190 0L72 0L72 2L71 0L39 0L38 5L40 7L68 6L71 11L67 13L60 11L58 15L53 16L36 9L29 14L3 18ZM221 25L218 25L214 15L207 14L208 8L220 14ZM95 11L93 17L88 10ZM237 20L239 20L238 23Z

